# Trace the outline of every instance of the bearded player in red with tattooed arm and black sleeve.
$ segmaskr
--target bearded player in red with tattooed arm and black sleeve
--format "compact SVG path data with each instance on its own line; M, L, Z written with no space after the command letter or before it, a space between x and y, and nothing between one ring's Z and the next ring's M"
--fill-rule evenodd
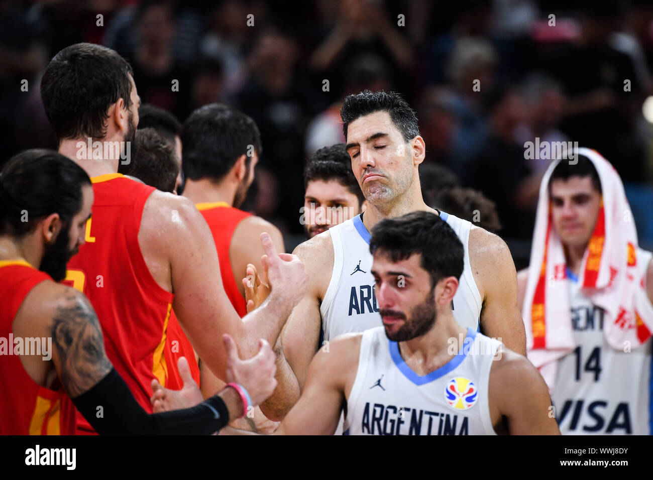
M75 407L106 434L219 430L247 410L236 389L199 408L147 415L106 358L88 300L53 281L84 244L92 204L88 175L59 153L27 150L0 172L0 434L73 434ZM276 386L270 345L261 340L259 354L242 362L225 337L229 380L263 400ZM185 381L193 383L188 374Z

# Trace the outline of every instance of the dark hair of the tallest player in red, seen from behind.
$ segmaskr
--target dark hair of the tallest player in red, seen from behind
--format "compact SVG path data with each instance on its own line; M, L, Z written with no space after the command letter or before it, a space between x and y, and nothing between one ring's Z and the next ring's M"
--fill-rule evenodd
M118 99L131 106L131 66L105 46L77 43L56 54L45 69L43 106L59 142L102 138L109 107Z

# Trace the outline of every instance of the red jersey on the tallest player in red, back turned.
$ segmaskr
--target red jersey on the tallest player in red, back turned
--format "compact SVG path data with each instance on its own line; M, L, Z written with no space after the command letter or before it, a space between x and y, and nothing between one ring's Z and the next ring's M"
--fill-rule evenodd
M168 386L177 368L165 351L174 295L156 283L138 245L143 208L155 189L118 173L91 182L95 202L86 243L69 261L66 281L90 300L108 359L150 413L152 379ZM77 421L77 434L93 432L79 413Z

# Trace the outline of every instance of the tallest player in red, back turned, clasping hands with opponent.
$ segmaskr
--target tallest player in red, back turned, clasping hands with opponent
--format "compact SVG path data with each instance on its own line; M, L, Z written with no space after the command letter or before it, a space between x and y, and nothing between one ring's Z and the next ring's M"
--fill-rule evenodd
M151 380L165 382L168 368L175 367L163 355L173 306L191 344L218 377L225 378L223 333L234 337L246 357L256 353L261 337L276 344L304 291L302 263L287 254L268 262L270 296L241 320L224 293L214 243L197 208L116 173L120 161L129 161L138 125L129 64L102 46L69 46L50 61L41 95L59 152L86 170L95 193L86 244L71 259L67 278L93 304L107 356L141 406L151 411ZM261 238L273 248L269 235ZM288 392L298 392L296 381L280 377L272 402ZM268 404L261 407L268 417L279 416ZM88 424L80 427L89 430Z

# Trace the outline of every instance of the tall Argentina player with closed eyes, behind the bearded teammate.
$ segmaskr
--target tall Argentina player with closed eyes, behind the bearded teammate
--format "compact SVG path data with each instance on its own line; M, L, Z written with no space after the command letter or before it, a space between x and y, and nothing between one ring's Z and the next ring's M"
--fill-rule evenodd
M345 99L341 116L351 167L368 206L362 215L311 238L293 252L309 274L308 292L283 331L285 357L300 389L321 333L330 341L340 334L381 326L371 273L372 227L408 212L438 213L422 199L417 168L426 146L406 101L396 93L364 91ZM473 330L479 329L480 319L480 330L486 335L502 338L507 347L525 354L517 274L509 249L501 238L468 221L445 212L440 215L464 246L454 317Z

